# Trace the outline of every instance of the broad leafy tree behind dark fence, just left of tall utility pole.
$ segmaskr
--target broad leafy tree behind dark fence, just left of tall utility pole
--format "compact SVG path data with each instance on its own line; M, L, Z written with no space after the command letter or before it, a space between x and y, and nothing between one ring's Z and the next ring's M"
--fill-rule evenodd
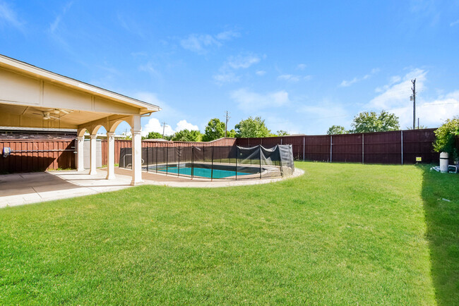
M374 111L363 111L354 117L351 126L354 128L350 131L351 133L386 132L400 129L398 117L387 111L381 111L379 115Z

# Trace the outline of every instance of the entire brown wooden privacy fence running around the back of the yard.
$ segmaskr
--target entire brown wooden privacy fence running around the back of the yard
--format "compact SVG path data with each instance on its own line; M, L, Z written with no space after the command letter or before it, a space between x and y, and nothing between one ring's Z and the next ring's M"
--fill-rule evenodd
M292 145L294 159L365 164L438 163L439 153L432 142L435 129L403 130L347 135L293 135L264 138L225 138L215 142L153 142L142 147L273 147ZM131 140L115 141L115 160L122 148L131 147ZM459 138L456 145L459 149ZM9 157L0 156L0 173L44 171L75 168L73 140L1 140L0 153L11 147ZM107 142L102 140L102 164L107 164Z

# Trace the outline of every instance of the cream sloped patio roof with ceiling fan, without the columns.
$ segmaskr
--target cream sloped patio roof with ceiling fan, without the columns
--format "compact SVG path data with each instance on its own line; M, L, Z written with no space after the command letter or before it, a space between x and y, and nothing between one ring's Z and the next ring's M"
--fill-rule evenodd
M155 111L160 107L0 54L2 126L78 129L100 121L109 130Z

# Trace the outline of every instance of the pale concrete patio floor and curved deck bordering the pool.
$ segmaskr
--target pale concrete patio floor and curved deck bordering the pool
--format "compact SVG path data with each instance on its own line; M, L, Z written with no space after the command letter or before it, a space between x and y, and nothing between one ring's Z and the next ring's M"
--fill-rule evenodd
M101 192L110 192L130 188L131 170L115 169L116 178L106 180L106 169L97 169L97 174L90 176L88 171L74 170L49 171L34 173L14 173L0 175L0 208L60 200L69 197L93 195ZM162 185L181 188L219 188L241 185L258 185L273 183L296 176L304 171L295 169L288 178L263 178L250 180L213 180L206 178L179 177L160 173L142 173L143 185Z

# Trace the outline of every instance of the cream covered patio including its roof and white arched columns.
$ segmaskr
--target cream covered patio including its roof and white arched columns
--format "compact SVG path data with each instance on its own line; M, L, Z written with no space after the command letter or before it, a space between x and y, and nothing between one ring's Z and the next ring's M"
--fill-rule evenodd
M142 183L141 117L160 107L85 82L11 59L0 54L1 126L73 128L76 169L83 173L84 134L90 135L90 176L97 176L96 135L107 130L107 180L115 178L114 131L125 121L131 126L131 185Z

